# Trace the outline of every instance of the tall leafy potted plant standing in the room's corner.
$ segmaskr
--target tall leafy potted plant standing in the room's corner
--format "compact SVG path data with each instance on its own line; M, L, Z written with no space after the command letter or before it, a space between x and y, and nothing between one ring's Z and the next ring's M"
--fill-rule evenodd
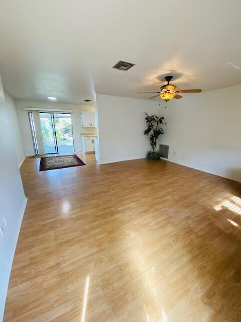
M145 135L150 135L150 144L152 147L152 151L148 152L147 157L149 159L160 159L160 154L155 151L157 140L161 134L164 133L163 128L161 125L163 125L164 117L158 117L156 115L148 115L146 114L146 122L147 122L147 129L145 130Z

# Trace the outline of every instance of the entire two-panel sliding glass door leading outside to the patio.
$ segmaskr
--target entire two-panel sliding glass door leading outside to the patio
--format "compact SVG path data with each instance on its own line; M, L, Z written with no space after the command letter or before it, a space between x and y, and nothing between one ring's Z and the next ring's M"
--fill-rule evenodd
M45 154L74 152L70 113L40 112Z

